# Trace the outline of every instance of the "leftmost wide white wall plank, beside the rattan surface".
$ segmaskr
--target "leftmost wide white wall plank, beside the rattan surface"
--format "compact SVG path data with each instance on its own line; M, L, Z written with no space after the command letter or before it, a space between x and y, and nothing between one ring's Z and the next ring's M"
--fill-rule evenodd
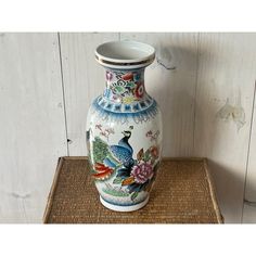
M0 36L0 222L41 222L66 155L56 34Z

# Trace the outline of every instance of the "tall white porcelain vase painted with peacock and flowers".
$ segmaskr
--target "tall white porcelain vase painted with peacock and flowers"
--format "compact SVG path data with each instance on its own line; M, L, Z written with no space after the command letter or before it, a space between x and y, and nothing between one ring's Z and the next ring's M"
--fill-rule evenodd
M155 50L112 41L97 48L95 59L105 68L105 87L87 117L91 176L105 207L137 210L150 199L162 156L162 114L144 86Z

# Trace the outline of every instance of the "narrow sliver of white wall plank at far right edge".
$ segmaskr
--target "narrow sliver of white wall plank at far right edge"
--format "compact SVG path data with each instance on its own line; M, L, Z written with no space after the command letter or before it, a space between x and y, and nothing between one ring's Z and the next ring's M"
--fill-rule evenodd
M256 84L255 84L255 90L256 90ZM243 222L256 223L256 102L255 102L255 93L254 93L254 112L253 112L253 119L252 119L251 143L249 143L249 152L248 152L247 176L246 176L244 197L246 201L255 202L255 206L248 206L244 204Z

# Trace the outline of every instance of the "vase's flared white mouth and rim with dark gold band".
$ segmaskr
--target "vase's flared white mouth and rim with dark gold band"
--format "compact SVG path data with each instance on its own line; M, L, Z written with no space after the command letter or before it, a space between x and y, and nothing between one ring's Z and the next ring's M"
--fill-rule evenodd
M146 43L131 40L110 41L95 49L97 61L111 68L132 69L150 65L155 49Z

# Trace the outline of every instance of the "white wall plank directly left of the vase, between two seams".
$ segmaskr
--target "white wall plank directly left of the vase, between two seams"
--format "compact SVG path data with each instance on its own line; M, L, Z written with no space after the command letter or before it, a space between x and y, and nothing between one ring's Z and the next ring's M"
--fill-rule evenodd
M104 71L94 60L94 50L112 40L118 40L117 33L61 34L69 155L87 155L87 112L105 86Z

